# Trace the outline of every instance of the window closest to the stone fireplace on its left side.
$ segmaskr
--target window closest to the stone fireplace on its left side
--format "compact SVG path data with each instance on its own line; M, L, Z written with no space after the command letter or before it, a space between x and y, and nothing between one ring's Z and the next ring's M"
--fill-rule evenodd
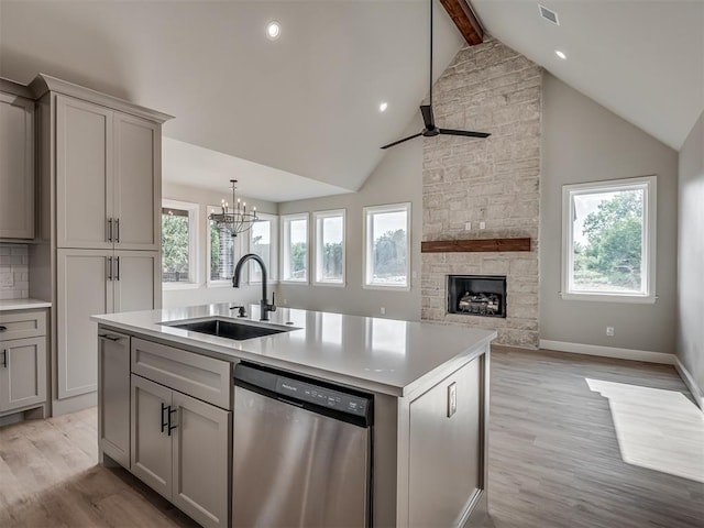
M410 204L364 208L364 286L410 289Z

